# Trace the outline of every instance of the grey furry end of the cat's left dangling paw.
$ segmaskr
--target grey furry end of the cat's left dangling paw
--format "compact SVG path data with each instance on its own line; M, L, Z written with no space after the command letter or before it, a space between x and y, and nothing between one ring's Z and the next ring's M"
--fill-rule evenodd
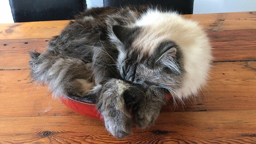
M120 115L121 116L121 115ZM120 119L108 120L105 118L106 129L116 138L122 139L132 133L132 118L131 116L121 117Z

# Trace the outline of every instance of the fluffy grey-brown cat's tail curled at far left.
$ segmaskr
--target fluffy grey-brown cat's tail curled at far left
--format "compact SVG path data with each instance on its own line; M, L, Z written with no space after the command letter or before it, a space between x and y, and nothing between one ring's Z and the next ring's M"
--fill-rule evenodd
M54 97L83 97L93 88L91 64L73 57L56 56L50 50L29 52L31 81L47 84ZM90 95L90 94L89 94Z

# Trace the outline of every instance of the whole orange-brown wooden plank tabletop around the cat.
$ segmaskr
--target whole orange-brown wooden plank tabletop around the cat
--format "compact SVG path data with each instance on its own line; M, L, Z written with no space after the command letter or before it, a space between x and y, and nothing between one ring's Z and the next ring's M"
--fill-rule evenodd
M0 143L256 143L256 11L185 15L199 21L215 57L208 86L154 126L115 139L103 122L52 99L29 80L28 53L43 52L68 20L0 24Z

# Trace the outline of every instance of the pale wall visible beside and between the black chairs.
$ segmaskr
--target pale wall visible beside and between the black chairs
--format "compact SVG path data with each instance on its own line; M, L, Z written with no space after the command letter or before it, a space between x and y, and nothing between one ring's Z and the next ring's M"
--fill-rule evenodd
M103 0L86 0L87 7L102 7ZM256 11L256 0L195 0L194 14ZM13 23L8 0L0 0L0 23Z

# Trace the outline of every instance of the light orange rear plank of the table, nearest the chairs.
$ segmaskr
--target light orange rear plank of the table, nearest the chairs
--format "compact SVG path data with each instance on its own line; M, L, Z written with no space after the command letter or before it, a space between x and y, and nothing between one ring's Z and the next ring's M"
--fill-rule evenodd
M184 17L198 21L210 31L256 29L256 11L184 15ZM68 20L57 20L1 24L0 39L50 38L59 35L68 22Z

